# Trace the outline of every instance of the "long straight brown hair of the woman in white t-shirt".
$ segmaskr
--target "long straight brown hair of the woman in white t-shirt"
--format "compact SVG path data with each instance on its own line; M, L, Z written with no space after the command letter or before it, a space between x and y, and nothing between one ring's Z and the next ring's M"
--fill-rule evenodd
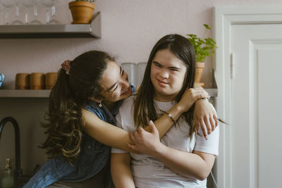
M140 89L137 91L137 96L134 101L134 123L137 126L145 127L149 120L157 120L158 115L154 107L154 87L152 80L150 78L151 65L154 56L157 51L169 49L177 58L179 58L185 66L187 67L185 80L183 82L183 87L176 96L175 101L180 101L181 96L187 88L193 88L195 82L195 51L192 44L188 39L181 35L166 35L159 39L157 44L154 45L151 54L149 55L149 60L147 62L147 67L145 69L145 74L140 85ZM189 109L189 111L181 115L190 125L189 136L195 132L195 123L193 120L194 108Z

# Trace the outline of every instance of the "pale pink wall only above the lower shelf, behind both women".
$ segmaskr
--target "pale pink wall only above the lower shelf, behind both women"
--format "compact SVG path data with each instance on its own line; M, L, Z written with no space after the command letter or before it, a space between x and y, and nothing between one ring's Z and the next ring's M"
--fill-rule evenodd
M213 27L214 6L282 5L282 1L97 0L95 4L95 11L102 12L102 39L0 39L0 72L6 75L4 88L14 88L16 73L56 72L63 60L92 49L118 56L118 63L147 61L149 51L160 37L169 33L201 36L203 23ZM22 8L22 20L23 11ZM44 20L44 8L40 7L39 11L40 19ZM59 2L57 18L62 23L71 22L68 0ZM4 13L1 19L3 24ZM207 59L203 73L202 81L207 86L209 68L212 68L212 58Z

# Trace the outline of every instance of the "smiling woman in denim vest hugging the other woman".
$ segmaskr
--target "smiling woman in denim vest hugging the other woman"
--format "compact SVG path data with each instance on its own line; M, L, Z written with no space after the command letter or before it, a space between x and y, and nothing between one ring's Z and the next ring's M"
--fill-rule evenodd
M47 149L49 160L25 187L109 187L111 146L130 152L129 133L114 125L114 115L123 99L134 92L128 75L114 58L102 51L88 51L63 63L49 96ZM189 89L169 113L178 118L197 99L207 97L203 89ZM189 96L189 97L188 97ZM216 117L205 101L197 101L198 116ZM206 107L207 106L207 107ZM156 120L160 136L173 125L166 115ZM216 122L207 124L216 127ZM147 128L149 130L149 128Z

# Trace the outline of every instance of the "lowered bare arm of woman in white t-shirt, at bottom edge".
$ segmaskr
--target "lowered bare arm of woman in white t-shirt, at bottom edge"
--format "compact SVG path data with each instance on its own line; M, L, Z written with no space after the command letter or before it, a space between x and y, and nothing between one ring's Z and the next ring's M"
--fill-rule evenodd
M114 185L116 188L135 188L133 176L130 170L129 153L111 154L111 177L113 178Z

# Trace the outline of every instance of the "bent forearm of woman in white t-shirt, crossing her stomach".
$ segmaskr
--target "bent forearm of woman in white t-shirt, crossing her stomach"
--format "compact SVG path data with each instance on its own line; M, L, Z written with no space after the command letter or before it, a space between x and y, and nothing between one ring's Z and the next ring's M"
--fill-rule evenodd
M214 156L209 155L209 158L204 160L201 156L195 153L188 153L172 149L164 144L159 146L159 149L152 153L152 156L164 163L174 172L185 177L192 177L197 180L204 180L212 170L214 164Z

